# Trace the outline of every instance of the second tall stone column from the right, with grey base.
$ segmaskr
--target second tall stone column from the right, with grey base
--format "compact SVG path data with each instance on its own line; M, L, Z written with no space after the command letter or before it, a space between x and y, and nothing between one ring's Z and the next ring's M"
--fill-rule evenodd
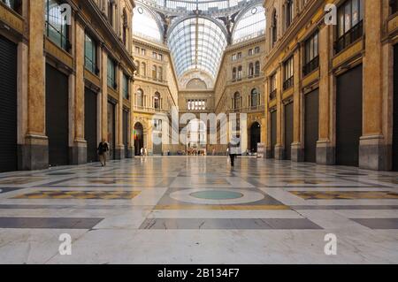
M319 141L317 142L317 163L335 164L335 148L332 143L332 118L331 118L331 80L329 70L331 69L331 50L333 44L330 41L332 26L323 24L319 29ZM330 47L330 48L329 48Z

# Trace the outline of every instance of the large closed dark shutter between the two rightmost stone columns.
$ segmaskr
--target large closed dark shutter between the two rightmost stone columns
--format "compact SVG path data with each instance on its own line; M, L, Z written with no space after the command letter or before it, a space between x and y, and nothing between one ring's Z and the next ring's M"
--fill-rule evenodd
M362 65L337 78L336 164L359 165L362 136Z

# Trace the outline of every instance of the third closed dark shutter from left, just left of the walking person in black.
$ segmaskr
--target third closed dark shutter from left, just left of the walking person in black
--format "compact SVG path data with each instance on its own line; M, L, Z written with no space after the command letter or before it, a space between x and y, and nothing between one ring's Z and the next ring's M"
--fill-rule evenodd
M84 95L84 136L87 141L87 161L93 163L98 160L97 146L97 95L86 88Z

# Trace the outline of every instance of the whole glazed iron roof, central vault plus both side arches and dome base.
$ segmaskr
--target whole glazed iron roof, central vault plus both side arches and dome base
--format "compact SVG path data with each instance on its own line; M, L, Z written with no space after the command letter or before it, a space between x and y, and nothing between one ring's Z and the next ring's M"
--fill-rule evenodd
M263 0L136 0L134 35L165 42L177 75L203 71L215 79L228 43L265 31Z

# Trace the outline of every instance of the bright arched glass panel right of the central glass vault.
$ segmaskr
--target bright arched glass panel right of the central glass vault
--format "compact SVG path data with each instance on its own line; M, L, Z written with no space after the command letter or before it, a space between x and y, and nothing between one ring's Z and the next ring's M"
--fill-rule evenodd
M265 33L264 7L258 5L246 11L233 31L233 43L244 42Z

